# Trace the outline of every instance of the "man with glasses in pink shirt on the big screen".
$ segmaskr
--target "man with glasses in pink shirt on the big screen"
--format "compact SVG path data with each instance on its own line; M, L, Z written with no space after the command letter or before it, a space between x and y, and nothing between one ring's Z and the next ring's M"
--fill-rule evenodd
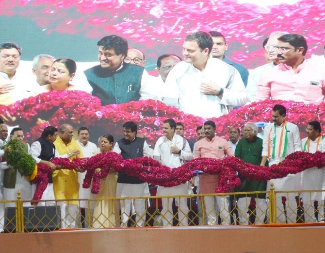
M260 78L257 101L265 99L321 103L325 95L324 65L305 59L307 41L300 34L280 36L276 44L279 64Z

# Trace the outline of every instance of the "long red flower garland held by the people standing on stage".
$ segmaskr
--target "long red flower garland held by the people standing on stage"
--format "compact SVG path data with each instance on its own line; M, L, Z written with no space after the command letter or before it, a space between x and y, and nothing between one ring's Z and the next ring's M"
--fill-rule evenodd
M130 176L137 176L153 185L166 187L185 183L193 177L194 170L202 170L209 174L219 174L216 192L222 193L230 192L231 189L240 185L241 181L236 172L255 181L282 178L288 174L296 174L312 167L319 169L325 167L325 153L294 152L279 164L270 167L244 163L243 160L236 157L226 157L223 160L197 158L178 168L171 169L150 157L124 160L121 155L115 152L99 153L90 158L75 158L72 161L67 158L54 158L51 162L65 169L77 167L86 169L82 187L89 188L92 182L91 191L94 194L99 192L100 179L105 178L111 169L123 171ZM97 168L101 168L101 171L95 172ZM37 184L34 194L35 200L41 199L48 184L47 174L51 172L48 166L38 164L38 173L33 180L33 183Z

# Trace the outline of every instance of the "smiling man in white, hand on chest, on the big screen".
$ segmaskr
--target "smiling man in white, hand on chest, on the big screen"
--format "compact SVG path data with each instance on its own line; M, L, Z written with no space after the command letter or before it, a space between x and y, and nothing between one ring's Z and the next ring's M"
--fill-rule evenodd
M185 113L203 118L227 113L227 105L244 105L248 100L239 72L210 57L211 35L196 32L185 37L184 61L168 74L163 101Z

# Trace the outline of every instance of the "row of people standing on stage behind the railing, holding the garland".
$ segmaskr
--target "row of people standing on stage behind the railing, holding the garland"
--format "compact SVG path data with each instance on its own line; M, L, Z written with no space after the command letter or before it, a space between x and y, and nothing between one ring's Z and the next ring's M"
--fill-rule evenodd
M87 127L78 129L78 140L73 140L74 129L69 124L63 124L59 129L49 126L46 127L37 140L32 145L26 145L28 151L37 163L43 163L53 169L52 175L49 175L49 185L45 190L42 200L65 200L65 199L86 199L86 198L108 198L108 197L140 197L149 196L148 184L138 177L129 176L123 172L115 173L111 171L110 181L102 181L100 187L111 187L107 192L100 192L99 195L90 193L90 189L82 188L85 171L80 168L68 170L57 168L51 159L54 157L66 157L73 159L75 157L91 157L98 152L113 151L125 159L150 156L163 165L170 168L177 168L183 163L199 157L224 159L227 156L236 156L244 162L267 166L281 162L292 152L304 151L314 153L316 151L325 151L325 140L321 135L322 128L318 121L311 121L307 125L307 137L300 139L298 127L285 120L286 108L276 104L272 108L272 121L264 128L263 137L258 137L259 128L253 122L248 122L243 129L231 127L229 129L229 141L219 137L216 133L215 122L208 120L203 126L197 127L198 140L193 144L187 140L184 135L184 126L181 122L176 123L173 119L166 119L162 123L163 135L160 137L152 150L146 143L145 136L137 134L137 125L132 121L123 124L124 138L114 143L112 135L103 135L98 139L98 146L89 141L90 132ZM122 131L121 131L122 132ZM242 133L242 138L239 139ZM1 145L7 142L7 126L2 122L0 124ZM9 136L9 139L18 139L23 141L23 129L15 127ZM1 150L1 155L5 151ZM32 200L35 186L16 169L7 165L5 161L0 163L0 169L3 171L2 192L4 200L15 200L18 190L21 190L22 200ZM99 168L100 171L100 168ZM195 177L195 175L194 175ZM271 181L276 190L321 190L324 189L325 173L324 169L308 169L304 172L288 175L284 178L273 179L269 182L260 182L249 180L239 174L241 186L234 189L235 192L265 191L270 188ZM196 186L196 193L211 194L215 192L218 185L219 175L201 174L195 177L193 186ZM317 182L316 182L317 181ZM113 188L112 188L113 186ZM193 194L189 182L172 187L158 186L157 195L186 195ZM285 206L282 204L281 194L277 196L277 221L296 222L297 203L295 193L283 194L286 197ZM305 221L313 222L324 219L324 197L321 192L301 194L303 208L305 211ZM251 198L255 198L255 223L262 224L266 216L267 201L265 193L259 194L238 194L235 196L238 218L240 224L249 222L249 205ZM318 203L318 208L314 207L314 202ZM100 209L100 215L103 214L103 204L100 203L94 207L94 202L88 205L86 201L81 202L58 202L61 206L61 213L65 218L66 227L78 227L79 207L89 208L91 213L96 213ZM168 198L162 198L162 224L170 226L173 224L173 201ZM11 205L13 205L12 203ZM52 204L55 202L39 202L42 204ZM177 198L176 204L178 210L178 224L187 225L189 207L186 198ZM221 218L221 224L230 224L232 214L229 212L229 200L227 196L205 196L200 200L204 205L206 224L218 224L218 216ZM30 205L25 202L24 205ZM6 203L6 206L10 206ZM120 208L120 217L109 223L107 226L122 227L127 226L128 220L132 214L136 215L135 223L137 226L143 226L146 221L146 204L144 199L121 200L118 203ZM112 208L112 207L110 207ZM119 211L116 211L119 213ZM2 210L3 212L3 210ZM113 212L112 210L109 211ZM89 213L88 211L86 213ZM317 214L317 215L316 215ZM94 215L95 219L96 215ZM118 220L118 221L117 221ZM102 221L97 227L103 227Z

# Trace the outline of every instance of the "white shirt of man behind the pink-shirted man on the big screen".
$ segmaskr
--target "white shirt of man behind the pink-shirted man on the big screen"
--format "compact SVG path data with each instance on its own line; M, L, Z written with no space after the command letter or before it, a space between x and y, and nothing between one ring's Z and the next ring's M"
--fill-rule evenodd
M249 99L247 104L255 101L257 86L260 82L261 75L268 69L274 67L275 65L272 63L267 63L262 66L256 67L254 69L249 70L249 76L246 86L246 91L249 95Z

